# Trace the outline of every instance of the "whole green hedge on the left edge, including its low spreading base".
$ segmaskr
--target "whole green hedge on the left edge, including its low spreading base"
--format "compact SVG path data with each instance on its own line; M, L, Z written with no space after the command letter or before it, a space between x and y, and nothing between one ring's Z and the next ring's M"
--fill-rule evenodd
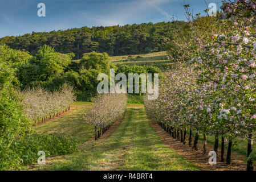
M15 91L17 86L15 69L0 57L0 170L25 168L36 162L38 151L46 152L46 156L77 151L74 138L35 133L25 115L22 97Z

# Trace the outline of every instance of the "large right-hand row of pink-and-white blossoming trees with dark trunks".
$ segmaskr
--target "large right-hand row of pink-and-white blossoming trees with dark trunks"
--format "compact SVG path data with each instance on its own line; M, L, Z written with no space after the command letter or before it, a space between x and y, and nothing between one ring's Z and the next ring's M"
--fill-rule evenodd
M177 62L176 69L162 81L159 99L146 105L152 106L156 121L181 142L186 142L189 130L192 146L194 130L195 150L200 133L204 135L204 152L207 135L214 134L214 151L218 152L221 135L221 161L226 138L227 164L231 162L233 140L247 139L247 170L252 170L256 131L256 3L238 0L222 4L223 12L217 17L194 17L189 5L185 5L191 32L177 35L169 49L174 59L184 62Z

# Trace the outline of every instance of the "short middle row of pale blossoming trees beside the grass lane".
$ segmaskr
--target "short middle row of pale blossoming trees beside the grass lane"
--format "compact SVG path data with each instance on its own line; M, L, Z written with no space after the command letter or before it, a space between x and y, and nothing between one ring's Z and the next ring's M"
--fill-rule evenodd
M95 126L95 140L124 114L127 94L99 94L90 113L84 115L86 123Z

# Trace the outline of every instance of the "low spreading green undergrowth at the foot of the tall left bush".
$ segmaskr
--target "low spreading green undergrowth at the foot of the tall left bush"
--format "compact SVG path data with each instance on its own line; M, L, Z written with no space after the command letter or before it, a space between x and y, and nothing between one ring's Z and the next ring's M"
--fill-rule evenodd
M11 142L11 144L10 144ZM22 138L0 139L0 170L24 169L39 158L38 151L47 156L72 154L78 151L78 141L57 134L25 134Z

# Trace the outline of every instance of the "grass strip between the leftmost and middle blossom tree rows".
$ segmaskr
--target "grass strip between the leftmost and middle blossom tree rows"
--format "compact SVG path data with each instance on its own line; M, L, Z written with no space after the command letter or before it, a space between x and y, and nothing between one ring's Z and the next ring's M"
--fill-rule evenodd
M77 137L80 143L86 142L94 135L94 127L84 123L83 115L92 107L92 103L75 102L71 107L76 109L58 119L36 126L35 130Z

